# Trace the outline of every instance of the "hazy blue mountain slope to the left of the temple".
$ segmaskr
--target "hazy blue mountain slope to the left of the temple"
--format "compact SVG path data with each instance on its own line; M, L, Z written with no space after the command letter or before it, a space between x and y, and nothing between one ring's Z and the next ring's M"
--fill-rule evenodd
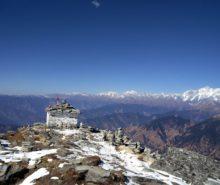
M42 96L0 96L0 124L44 121L49 98Z

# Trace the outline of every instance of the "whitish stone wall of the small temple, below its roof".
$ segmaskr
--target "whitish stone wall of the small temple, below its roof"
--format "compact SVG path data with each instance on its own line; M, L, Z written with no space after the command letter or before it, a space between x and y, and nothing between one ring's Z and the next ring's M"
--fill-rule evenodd
M70 118L67 116L56 117L47 113L47 126L48 127L60 127L60 128L70 128L77 125L77 118Z

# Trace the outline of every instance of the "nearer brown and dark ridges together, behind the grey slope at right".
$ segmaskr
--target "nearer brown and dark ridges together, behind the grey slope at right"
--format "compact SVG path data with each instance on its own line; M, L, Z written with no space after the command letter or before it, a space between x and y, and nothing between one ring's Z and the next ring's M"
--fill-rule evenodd
M169 116L124 130L132 139L153 150L162 152L169 146L175 146L220 159L220 120L216 118L195 124Z

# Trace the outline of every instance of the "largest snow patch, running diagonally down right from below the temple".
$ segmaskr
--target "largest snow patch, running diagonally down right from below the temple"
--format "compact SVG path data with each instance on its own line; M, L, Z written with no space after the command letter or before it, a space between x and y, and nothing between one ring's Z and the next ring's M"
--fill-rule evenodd
M129 179L129 185L135 184L132 182L132 176L157 179L168 185L172 185L173 183L187 185L181 178L163 171L151 169L147 162L139 160L135 154L117 151L115 146L103 141L101 134L94 134L93 136L96 141L90 140L92 144L89 146L80 141L76 142L77 145L81 145L83 154L100 156L103 161L102 168L105 170L125 169L125 175Z

